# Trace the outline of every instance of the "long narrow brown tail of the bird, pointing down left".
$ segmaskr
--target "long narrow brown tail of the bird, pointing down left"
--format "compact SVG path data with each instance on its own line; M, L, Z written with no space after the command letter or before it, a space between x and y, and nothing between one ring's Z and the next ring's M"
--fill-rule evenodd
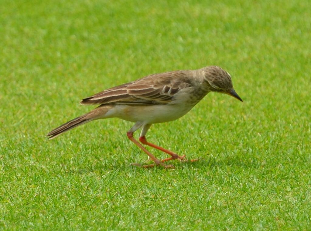
M73 120L68 121L67 123L64 123L63 125L60 125L59 127L55 128L54 130L50 131L46 136L49 137L49 139L53 139L60 134L67 132L70 129L73 129L77 126L80 126L82 124L85 124L87 122L90 122L92 120L96 120L99 118L103 118L103 116L106 114L106 112L111 108L110 105L107 106L99 106L95 108L93 111L90 111L83 116L79 116Z

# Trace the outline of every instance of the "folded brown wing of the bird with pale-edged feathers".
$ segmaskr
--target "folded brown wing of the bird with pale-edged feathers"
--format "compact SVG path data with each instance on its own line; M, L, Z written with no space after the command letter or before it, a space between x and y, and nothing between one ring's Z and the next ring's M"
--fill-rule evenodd
M91 104L167 104L183 88L191 86L186 71L172 71L146 76L122 84L83 99L80 103Z

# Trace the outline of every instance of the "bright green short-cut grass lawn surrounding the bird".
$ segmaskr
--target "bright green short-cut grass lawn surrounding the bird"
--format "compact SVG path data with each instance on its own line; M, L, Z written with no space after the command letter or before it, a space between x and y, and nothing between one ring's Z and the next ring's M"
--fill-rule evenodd
M2 0L0 229L309 229L310 8ZM196 163L132 167L147 156L118 119L44 137L93 108L81 98L208 65L230 72L244 103L210 93L148 133Z

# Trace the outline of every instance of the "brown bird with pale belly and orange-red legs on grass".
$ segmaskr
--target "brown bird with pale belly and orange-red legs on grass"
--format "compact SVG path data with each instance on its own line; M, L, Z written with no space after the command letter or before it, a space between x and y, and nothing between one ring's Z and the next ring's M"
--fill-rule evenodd
M144 168L155 166L174 168L174 165L165 162L174 159L184 160L185 155L179 156L175 152L148 142L147 131L152 124L169 122L184 116L210 92L225 93L243 102L233 88L231 75L219 66L152 74L82 99L80 102L82 105L99 106L53 129L47 137L53 139L93 120L116 117L135 123L127 131L128 139L154 161L148 165L137 163L132 165ZM133 135L140 128L142 128L139 136L141 143ZM159 160L143 144L165 152L170 157Z

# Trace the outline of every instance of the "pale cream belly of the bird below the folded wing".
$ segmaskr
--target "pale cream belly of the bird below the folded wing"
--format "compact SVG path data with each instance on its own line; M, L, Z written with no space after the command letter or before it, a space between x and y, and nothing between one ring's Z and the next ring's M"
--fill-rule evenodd
M132 122L142 121L146 124L163 123L176 120L185 115L193 106L184 105L116 105L114 116Z

